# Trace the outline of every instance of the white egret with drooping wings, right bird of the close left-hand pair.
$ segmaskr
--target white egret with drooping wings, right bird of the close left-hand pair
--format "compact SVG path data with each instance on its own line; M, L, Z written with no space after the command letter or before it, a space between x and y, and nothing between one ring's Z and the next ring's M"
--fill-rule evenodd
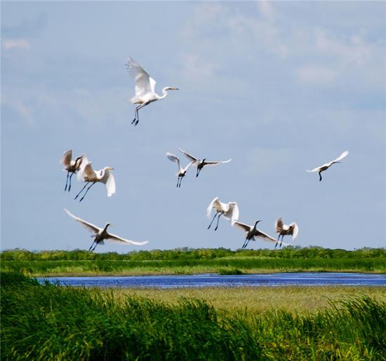
M95 184L95 183L103 183L106 186L107 190L107 197L111 197L115 193L115 178L111 170L114 170L114 168L111 167L105 167L100 170L93 170L93 167L91 165L91 162L87 161L87 158L84 159L84 161L81 163L81 169L79 170L78 173L78 179L81 180L82 182L86 182L84 187L81 189L81 191L76 194L76 198L79 197L82 191L88 186L86 189L86 192L84 192L84 195L82 198L79 200L81 202L83 198L86 196L88 190Z

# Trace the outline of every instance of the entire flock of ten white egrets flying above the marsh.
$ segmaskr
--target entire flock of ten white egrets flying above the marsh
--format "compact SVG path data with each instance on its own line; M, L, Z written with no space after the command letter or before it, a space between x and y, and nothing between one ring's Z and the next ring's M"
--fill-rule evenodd
M138 122L139 122L138 112L140 109L142 109L143 107L146 107L148 104L152 102L165 99L166 96L168 95L168 90L178 90L178 88L167 86L162 89L163 95L159 96L157 93L155 93L156 81L152 79L147 73L147 71L145 71L140 66L140 64L135 62L132 57L128 58L126 62L126 67L128 68L129 74L135 79L135 95L134 97L131 98L130 102L132 104L139 104L137 107L135 107L134 119L131 122L131 124L138 125ZM185 177L187 170L191 166L194 166L197 168L196 177L198 177L202 168L206 167L207 165L219 165L219 164L228 163L231 161L231 159L228 159L227 161L206 161L206 158L203 158L201 160L199 158L196 158L195 156L192 156L186 151L183 151L180 148L178 149L190 161L185 168L182 168L180 164L180 158L178 158L178 156L175 156L174 154L171 154L169 152L166 153L166 156L168 157L168 159L172 162L177 163L178 165L178 173L176 174L178 176L178 179L177 179L178 188L181 186L182 178ZM349 152L344 151L342 154L340 154L340 156L338 156L338 158L335 158L333 161L328 162L312 170L307 170L307 172L318 172L319 182L320 182L322 179L321 172L324 172L325 170L330 168L331 165L335 163L340 163L340 161L343 158L345 158L347 154L349 154ZM84 199L88 191L95 183L105 184L108 197L112 196L115 193L115 179L114 179L114 175L111 172L113 168L105 167L105 168L102 168L101 170L95 171L93 170L91 161L88 161L88 158L84 154L82 154L81 156L73 160L71 149L66 151L65 154L63 154L61 163L64 167L64 170L67 171L65 191L67 191L67 189L68 191L70 191L71 179L76 172L78 173L78 180L81 182L86 182L84 187L81 189L81 191L79 191L79 193L76 194L74 198L74 199L78 198L81 195L81 193L86 189L86 191L84 191L83 196L81 196L81 198L79 199L79 202L81 202L81 200ZM255 224L253 226L249 226L248 224L239 222L239 206L237 205L237 203L236 202L222 203L220 202L220 200L218 200L218 197L214 198L211 204L208 205L208 208L206 210L208 217L211 216L212 210L215 210L215 215L211 220L211 223L209 224L208 229L211 228L211 225L213 224L215 217L218 217L217 224L215 226L215 231L216 231L218 229L218 222L220 220L220 217L223 216L225 219L229 220L232 226L235 226L246 233L246 238L242 248L246 248L249 241L255 240L255 237L259 237L262 240L267 240L269 242L274 242L276 243L275 247L277 247L278 243L280 242L280 247L281 247L281 245L287 245L286 243L283 243L284 236L291 235L292 239L295 240L295 238L298 236L298 233L299 233L298 225L295 222L287 225L287 224L283 224L281 218L278 218L275 223L275 232L279 233L279 236L276 240L271 236L268 236L266 233L259 231L256 228L256 226L258 225L258 222L261 222L260 220L255 221ZM94 238L94 240L89 250L95 250L95 247L98 244L104 244L104 240L109 240L117 243L131 244L131 245L145 245L147 243L147 241L134 242L133 240L126 240L119 236L115 236L114 234L108 233L107 227L110 225L109 223L107 223L104 228L100 228L98 226L95 226L94 224L84 221L84 219L74 216L74 214L70 213L66 209L65 209L65 212L67 212L67 214L69 214L69 216L74 218L77 222L86 226L86 229L88 229L93 233L92 237ZM281 241L280 241L280 236L281 236Z

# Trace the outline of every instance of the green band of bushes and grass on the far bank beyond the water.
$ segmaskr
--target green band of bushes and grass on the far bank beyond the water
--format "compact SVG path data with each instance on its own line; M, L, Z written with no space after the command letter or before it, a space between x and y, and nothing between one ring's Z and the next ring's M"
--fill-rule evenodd
M29 275L140 275L237 272L359 271L386 273L386 249L282 250L189 249L134 251L126 254L84 250L1 252L4 271Z

